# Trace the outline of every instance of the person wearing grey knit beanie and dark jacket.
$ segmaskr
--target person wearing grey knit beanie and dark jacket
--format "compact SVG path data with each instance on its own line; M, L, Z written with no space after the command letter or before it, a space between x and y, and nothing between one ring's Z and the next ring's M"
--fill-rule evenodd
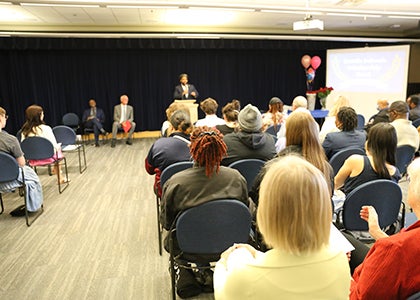
M274 138L265 132L261 132L262 117L257 107L248 104L238 115L239 131L229 133L223 140L227 146L227 156L222 165L246 159L257 158L269 160L276 155Z

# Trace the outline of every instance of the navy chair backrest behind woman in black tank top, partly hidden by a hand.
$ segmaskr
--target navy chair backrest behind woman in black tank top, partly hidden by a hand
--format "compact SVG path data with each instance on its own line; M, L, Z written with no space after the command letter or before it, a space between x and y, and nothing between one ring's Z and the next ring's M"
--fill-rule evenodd
M360 209L371 205L378 213L379 226L393 224L401 208L402 192L392 180L378 179L361 184L351 191L343 205L343 225L347 230L367 231L368 223L360 218Z

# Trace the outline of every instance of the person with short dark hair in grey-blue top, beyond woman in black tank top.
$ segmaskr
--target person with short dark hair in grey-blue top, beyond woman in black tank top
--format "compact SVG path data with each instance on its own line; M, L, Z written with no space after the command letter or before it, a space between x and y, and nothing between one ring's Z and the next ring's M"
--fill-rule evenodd
M356 130L357 114L353 108L348 106L340 108L335 124L340 131L328 133L322 143L328 159L337 152L347 148L364 150L366 135L364 131Z

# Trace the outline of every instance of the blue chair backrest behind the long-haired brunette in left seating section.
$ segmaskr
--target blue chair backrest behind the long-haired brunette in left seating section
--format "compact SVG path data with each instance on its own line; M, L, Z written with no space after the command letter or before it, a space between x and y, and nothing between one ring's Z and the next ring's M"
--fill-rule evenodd
M25 153L25 158L30 160L51 158L55 154L53 144L40 136L27 137L20 146Z

